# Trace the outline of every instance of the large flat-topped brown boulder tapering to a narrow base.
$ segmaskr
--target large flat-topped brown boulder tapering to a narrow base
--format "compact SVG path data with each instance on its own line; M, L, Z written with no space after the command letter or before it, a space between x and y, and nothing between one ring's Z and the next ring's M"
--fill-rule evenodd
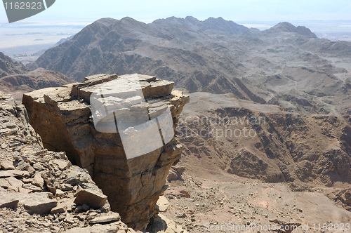
M112 210L143 229L182 151L173 128L189 97L172 88L155 76L98 74L26 93L23 103L44 146L86 168Z

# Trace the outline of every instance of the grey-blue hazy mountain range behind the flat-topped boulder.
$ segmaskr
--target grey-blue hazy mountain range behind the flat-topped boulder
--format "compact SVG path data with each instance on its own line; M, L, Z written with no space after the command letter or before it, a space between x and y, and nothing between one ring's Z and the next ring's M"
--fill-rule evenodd
M350 55L350 42L319 39L289 22L260 31L223 18L171 17L150 24L103 18L28 66L76 81L138 72L175 81L191 93L232 93L289 112L350 114Z

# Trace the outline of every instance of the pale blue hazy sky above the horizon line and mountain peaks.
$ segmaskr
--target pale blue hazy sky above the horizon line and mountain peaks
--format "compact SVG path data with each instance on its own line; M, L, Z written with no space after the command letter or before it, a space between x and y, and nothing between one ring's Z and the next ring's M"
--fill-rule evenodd
M0 23L8 23L0 6ZM93 22L99 18L125 16L143 22L157 18L192 15L199 20L223 17L225 20L351 20L350 0L56 0L48 10L20 22L48 24Z

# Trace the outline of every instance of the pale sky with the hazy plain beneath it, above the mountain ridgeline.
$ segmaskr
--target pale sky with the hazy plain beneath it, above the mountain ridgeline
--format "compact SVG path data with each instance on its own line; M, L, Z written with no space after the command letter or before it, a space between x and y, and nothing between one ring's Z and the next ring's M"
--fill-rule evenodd
M193 16L198 20L222 17L246 27L267 29L278 22L306 26L319 37L351 41L350 0L247 1L69 1L56 0L46 11L8 23L0 6L0 51L14 55L36 53L79 32L100 18L131 17L150 23L159 18ZM20 48L32 46L31 48Z

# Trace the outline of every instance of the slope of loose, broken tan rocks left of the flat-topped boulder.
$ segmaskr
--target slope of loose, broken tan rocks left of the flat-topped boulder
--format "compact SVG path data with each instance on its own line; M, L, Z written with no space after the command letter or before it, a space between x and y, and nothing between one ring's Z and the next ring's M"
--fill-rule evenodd
M25 107L4 93L0 123L0 232L135 232L110 211L88 171L44 149Z

